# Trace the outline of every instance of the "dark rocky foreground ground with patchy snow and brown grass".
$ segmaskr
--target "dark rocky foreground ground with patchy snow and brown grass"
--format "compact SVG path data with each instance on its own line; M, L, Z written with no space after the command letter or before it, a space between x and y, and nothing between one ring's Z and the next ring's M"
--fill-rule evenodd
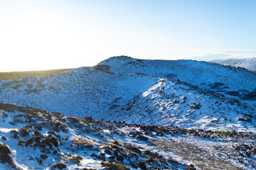
M75 118L0 103L0 169L255 169L255 134Z

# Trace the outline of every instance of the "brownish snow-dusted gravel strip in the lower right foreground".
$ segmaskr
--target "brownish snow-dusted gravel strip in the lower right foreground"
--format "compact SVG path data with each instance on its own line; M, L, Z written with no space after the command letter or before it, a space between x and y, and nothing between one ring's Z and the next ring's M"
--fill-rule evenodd
M242 170L242 168L226 161L228 156L218 151L218 149L213 149L213 147L208 150L186 142L174 142L171 140L151 140L151 142L156 145L157 149L172 152L184 160L192 162L196 169Z

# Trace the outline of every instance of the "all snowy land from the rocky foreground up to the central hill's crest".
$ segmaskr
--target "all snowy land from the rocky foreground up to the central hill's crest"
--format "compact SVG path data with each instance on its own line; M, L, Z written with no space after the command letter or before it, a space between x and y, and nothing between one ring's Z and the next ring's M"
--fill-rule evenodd
M131 57L0 81L0 169L255 169L255 84Z

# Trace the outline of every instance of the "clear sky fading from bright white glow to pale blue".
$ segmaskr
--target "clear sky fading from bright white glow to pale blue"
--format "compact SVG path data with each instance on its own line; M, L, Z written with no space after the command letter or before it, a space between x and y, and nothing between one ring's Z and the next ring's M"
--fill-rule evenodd
M0 0L0 70L256 57L252 0Z

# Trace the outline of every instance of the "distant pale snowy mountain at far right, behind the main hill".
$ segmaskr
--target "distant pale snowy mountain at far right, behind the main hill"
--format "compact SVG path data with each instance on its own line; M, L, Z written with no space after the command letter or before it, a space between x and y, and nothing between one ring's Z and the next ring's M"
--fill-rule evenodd
M223 65L230 65L233 67L244 67L250 71L256 71L256 58L250 59L228 59L228 60L213 60L210 62L223 64Z

